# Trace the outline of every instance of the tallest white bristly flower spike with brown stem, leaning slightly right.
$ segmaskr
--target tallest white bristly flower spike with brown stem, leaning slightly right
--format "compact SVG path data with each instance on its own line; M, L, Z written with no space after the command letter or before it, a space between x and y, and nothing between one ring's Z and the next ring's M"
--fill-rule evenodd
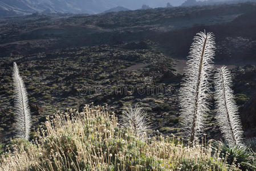
M179 92L181 124L191 142L200 136L209 111L209 76L213 70L215 40L212 33L199 32L190 48L185 77Z

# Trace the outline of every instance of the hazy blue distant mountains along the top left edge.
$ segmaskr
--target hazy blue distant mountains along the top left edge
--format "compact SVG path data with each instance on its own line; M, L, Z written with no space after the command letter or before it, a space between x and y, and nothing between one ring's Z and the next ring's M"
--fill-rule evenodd
M122 6L125 9L136 10L142 5L151 7L165 7L169 0L1 0L0 17L28 15L32 13L74 13L74 14L99 14L106 10Z

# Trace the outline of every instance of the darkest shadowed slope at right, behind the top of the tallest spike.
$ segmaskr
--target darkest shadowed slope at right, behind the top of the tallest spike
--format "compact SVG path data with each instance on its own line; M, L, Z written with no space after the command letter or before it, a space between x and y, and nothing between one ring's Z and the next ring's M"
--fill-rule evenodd
M251 10L235 18L234 21L213 26L197 26L183 30L159 33L153 38L162 44L168 54L185 59L192 38L198 30L216 34L216 62L220 64L253 61L256 63L256 11ZM168 48L169 47L169 48ZM184 51L184 49L186 49Z

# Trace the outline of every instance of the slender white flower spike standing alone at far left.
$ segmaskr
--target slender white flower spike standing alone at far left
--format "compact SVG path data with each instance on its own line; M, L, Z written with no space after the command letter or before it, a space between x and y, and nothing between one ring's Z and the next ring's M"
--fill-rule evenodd
M21 76L19 68L14 62L13 64L13 80L14 80L14 105L15 105L15 129L18 138L29 140L31 128L31 115L29 108L29 100L27 99L27 91Z

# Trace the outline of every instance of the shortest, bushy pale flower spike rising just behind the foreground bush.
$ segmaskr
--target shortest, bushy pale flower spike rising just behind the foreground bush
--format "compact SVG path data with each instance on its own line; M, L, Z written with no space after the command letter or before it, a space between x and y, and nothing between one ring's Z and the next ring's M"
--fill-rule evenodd
M135 106L126 107L121 116L122 125L131 129L135 137L141 141L147 139L148 123L145 112Z

